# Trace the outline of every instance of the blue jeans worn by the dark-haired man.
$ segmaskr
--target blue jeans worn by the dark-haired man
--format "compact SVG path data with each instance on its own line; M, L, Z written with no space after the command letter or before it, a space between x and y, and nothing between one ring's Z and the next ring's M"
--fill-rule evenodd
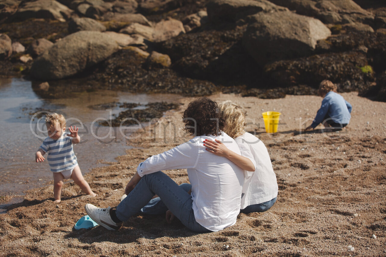
M210 232L196 221L190 194L161 171L147 174L141 178L137 186L117 206L117 217L122 221L127 221L146 206L155 194L162 200L166 210L169 209L185 227L194 232Z

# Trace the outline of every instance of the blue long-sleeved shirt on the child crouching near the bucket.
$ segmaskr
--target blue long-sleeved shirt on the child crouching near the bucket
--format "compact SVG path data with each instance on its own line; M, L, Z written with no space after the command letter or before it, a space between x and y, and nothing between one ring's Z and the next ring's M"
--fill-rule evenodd
M311 127L315 128L320 122L324 120L326 115L333 118L334 122L341 124L349 124L351 118L352 106L343 96L330 91L323 98L322 105L320 106L316 117L314 118Z

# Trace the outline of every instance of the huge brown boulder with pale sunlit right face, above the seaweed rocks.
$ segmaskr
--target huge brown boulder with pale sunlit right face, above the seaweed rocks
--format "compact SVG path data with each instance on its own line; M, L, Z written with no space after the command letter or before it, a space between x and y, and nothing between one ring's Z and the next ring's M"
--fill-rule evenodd
M249 20L243 45L260 66L310 55L318 40L331 35L320 20L289 11L260 12Z

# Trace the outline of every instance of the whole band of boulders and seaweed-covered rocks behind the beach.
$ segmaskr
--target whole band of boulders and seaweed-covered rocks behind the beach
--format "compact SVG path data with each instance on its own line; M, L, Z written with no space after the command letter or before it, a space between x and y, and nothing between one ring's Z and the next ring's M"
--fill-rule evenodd
M282 98L330 79L386 100L379 1L3 0L0 20L0 76L25 76L45 98L95 89Z

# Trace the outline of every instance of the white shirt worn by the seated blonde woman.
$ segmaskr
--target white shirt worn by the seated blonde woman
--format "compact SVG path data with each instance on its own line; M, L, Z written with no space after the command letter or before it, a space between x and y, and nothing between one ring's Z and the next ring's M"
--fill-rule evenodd
M250 159L255 165L255 171L244 171L241 209L264 203L278 196L276 174L264 143L248 132L236 137L235 141L239 145L241 155Z

